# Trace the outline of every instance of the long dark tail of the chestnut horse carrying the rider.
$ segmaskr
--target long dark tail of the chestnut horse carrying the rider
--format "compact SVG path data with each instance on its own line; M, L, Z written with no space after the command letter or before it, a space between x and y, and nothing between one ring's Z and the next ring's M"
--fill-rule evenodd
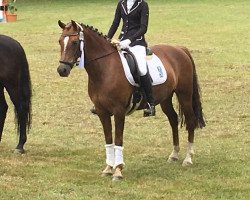
M181 47L181 49L188 55L193 65L193 94L192 94L192 106L195 115L195 128L203 128L206 126L204 120L204 114L202 112L201 105L201 91L198 83L198 77L195 69L194 60L189 52L189 50L185 47Z

